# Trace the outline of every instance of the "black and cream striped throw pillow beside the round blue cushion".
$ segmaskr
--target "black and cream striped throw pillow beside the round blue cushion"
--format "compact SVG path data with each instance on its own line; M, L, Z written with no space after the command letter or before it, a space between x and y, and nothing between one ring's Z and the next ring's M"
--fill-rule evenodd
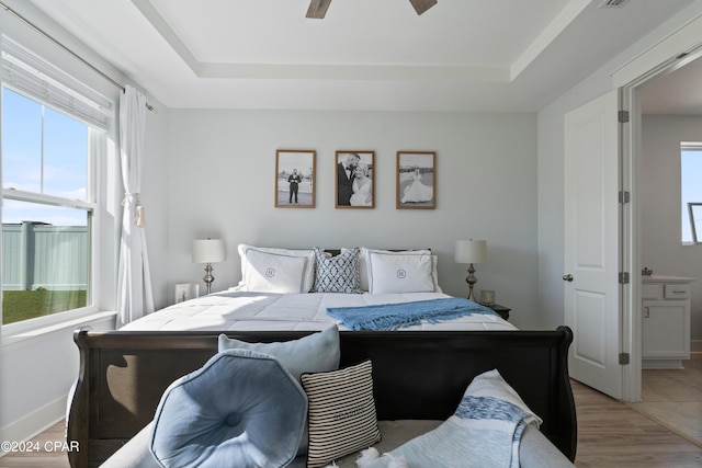
M307 467L325 467L381 440L373 399L373 366L303 374L307 393L309 447Z

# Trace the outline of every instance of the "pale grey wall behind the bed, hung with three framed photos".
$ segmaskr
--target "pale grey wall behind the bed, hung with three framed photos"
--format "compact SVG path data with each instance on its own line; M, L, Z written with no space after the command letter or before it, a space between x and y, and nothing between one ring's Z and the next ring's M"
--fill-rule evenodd
M236 246L431 248L450 294L467 295L458 239L487 239L476 289L497 293L522 328L536 310L536 127L533 114L171 111L168 281L202 284L191 242L226 239L214 289L240 279ZM274 207L276 149L317 151L314 209ZM335 209L336 150L374 150L375 208ZM437 209L395 208L397 150L437 151ZM172 300L172 299L171 299Z

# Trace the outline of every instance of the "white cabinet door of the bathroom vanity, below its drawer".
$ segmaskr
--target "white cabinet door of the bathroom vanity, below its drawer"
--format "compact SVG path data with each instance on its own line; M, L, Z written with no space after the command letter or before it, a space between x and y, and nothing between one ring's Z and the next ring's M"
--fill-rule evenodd
M644 300L644 358L690 358L690 304L687 300Z

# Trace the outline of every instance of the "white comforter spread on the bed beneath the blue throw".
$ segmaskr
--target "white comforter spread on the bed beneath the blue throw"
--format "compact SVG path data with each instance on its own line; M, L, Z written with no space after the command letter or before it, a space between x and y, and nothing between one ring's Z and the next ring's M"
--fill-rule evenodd
M324 330L339 323L327 307L360 307L451 297L410 294L272 294L222 292L176 304L126 324L121 330ZM473 315L401 330L517 330L498 316Z

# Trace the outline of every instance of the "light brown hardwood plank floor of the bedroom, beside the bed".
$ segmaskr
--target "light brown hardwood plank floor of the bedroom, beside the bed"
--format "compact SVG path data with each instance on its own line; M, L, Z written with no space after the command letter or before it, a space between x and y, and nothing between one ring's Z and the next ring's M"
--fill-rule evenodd
M573 381L573 390L578 416L578 468L702 467L702 447L582 384ZM55 441L64 441L64 422L33 440L39 447ZM0 458L0 468L39 467L68 468L68 458L65 453L46 450Z

